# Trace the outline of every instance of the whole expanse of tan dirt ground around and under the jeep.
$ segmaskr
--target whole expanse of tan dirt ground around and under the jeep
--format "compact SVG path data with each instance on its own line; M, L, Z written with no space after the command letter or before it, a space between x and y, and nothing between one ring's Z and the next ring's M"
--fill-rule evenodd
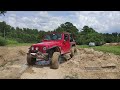
M26 64L28 46L0 47L0 79L120 79L120 56L79 49L59 69ZM68 56L69 58L69 56Z

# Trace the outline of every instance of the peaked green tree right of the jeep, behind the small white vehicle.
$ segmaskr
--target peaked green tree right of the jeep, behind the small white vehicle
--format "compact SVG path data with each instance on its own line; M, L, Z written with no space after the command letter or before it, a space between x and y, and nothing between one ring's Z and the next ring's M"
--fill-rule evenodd
M101 45L104 43L104 37L93 28L84 26L82 31L79 33L78 43L88 45L90 42L95 42L96 45Z

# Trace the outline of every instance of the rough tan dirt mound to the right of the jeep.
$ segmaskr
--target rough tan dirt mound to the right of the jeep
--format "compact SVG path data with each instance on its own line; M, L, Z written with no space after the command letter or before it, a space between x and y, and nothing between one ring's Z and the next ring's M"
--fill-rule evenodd
M120 56L95 51L94 49L79 49L78 55L61 67L69 72L76 73L77 78L120 78L120 73L112 76L108 75L108 72L110 74L111 72L119 72L119 65ZM65 78L73 78L71 73L69 75Z

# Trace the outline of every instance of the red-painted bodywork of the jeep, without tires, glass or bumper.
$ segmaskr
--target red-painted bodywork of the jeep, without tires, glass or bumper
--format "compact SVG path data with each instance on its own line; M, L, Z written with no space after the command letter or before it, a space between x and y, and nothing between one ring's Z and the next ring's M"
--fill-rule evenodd
M56 33L53 33L53 34L56 34ZM69 33L57 33L57 34L61 34L61 40L44 40L43 39L41 43L33 44L32 46L34 47L34 49L36 47L38 47L39 51L41 51L43 53L46 52L46 50L43 50L43 47L46 47L47 49L49 49L49 48L56 47L56 46L58 46L60 48L61 54L69 53L71 45L72 44L76 45L76 43L75 42L70 42ZM68 40L67 41L65 41L64 35L68 35Z

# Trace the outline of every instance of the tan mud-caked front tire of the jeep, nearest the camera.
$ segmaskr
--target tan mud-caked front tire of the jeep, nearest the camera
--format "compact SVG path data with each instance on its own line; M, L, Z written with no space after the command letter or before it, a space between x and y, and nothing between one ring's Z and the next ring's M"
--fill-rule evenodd
M59 58L60 58L60 53L59 52L54 52L51 58L51 69L58 69L59 68Z

